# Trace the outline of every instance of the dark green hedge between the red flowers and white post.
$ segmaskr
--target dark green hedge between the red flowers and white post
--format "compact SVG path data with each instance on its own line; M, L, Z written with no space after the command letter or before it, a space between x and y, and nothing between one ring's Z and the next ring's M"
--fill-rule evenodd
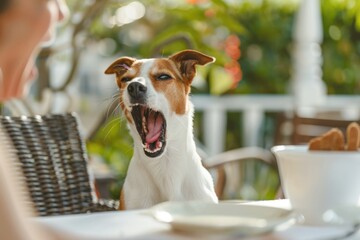
M237 19L248 33L240 36L243 80L232 93L286 93L294 6L248 2Z

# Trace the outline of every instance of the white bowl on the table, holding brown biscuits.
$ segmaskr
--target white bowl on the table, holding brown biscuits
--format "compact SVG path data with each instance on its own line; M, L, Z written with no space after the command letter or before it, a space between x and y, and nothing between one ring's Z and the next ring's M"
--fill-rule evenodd
M360 152L309 151L275 146L282 188L306 224L324 224L329 209L356 206L360 199Z

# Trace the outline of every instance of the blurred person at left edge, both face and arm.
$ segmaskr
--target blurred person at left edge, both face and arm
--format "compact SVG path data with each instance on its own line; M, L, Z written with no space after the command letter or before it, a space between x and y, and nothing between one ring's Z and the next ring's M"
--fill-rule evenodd
M35 59L44 44L54 41L56 23L68 14L64 0L0 1L0 102L22 98L37 74ZM21 178L12 165L14 155L0 126L0 239L68 239L31 221L34 210L20 193Z

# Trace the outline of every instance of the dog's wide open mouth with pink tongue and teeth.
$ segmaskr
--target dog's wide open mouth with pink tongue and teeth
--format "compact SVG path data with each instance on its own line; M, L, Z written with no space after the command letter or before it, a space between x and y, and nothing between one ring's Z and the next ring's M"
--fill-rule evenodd
M131 115L141 137L145 154L148 157L160 156L166 145L164 115L145 105L133 106Z

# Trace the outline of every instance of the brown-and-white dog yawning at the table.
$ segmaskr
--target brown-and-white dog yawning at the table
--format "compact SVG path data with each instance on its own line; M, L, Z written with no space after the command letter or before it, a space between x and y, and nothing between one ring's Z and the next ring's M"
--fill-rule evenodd
M218 202L193 138L189 99L196 65L215 61L195 50L168 58L114 61L120 107L134 140L134 153L120 194L120 209L148 208L164 201Z

